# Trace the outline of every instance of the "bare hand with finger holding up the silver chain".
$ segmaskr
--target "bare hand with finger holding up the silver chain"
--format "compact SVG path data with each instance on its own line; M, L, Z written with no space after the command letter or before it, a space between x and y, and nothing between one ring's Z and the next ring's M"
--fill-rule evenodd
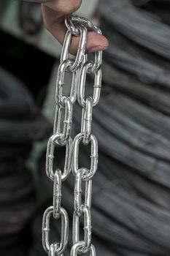
M27 0L42 4L42 15L48 31L62 44L66 34L64 19L66 15L72 14L81 5L81 0ZM89 1L89 0L86 0ZM78 37L72 37L70 53L76 54L79 43ZM88 32L87 52L106 50L108 48L107 38L96 32Z

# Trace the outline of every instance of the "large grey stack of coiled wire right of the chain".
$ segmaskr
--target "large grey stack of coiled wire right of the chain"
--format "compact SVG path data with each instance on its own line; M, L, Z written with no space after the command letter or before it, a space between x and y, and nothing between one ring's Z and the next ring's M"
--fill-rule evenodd
M98 256L168 256L170 1L103 0L99 12L110 45L104 53L103 93L93 113L100 150L93 184L93 244ZM91 86L93 78L89 90ZM80 131L80 116L77 105L75 132ZM60 154L56 165L63 161L64 152ZM86 167L88 148L82 147L81 154ZM53 188L40 173L51 200ZM72 212L72 178L64 186L63 205ZM60 229L52 228L56 240ZM41 230L41 214L33 230ZM31 255L44 255L40 234L34 236L36 253Z

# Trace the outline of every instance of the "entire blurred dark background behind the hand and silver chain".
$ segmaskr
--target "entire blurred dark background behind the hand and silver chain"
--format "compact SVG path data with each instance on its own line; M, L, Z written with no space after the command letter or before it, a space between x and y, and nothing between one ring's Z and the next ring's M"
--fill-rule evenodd
M93 182L96 255L170 254L170 1L82 0L77 12L100 24L101 100L93 113L99 166ZM42 256L42 215L53 182L45 174L53 133L61 45L45 30L39 4L0 1L0 255ZM69 77L68 83L69 83ZM88 78L87 87L93 86ZM73 137L81 111L74 108ZM65 148L57 148L57 167ZM82 148L80 165L88 163ZM62 205L73 212L72 176ZM58 222L51 226L59 241ZM66 255L72 246L69 240Z

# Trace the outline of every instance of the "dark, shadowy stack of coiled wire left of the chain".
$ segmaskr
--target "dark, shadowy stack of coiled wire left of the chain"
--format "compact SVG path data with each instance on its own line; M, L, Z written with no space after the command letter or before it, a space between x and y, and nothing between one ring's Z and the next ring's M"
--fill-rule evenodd
M0 69L0 255L28 252L36 207L28 157L50 129L23 83Z

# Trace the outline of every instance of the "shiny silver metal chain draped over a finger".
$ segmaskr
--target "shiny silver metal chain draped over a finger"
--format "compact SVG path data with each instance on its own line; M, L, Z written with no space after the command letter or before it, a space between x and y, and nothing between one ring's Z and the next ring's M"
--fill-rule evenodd
M56 81L56 109L53 135L47 144L46 173L53 181L53 206L45 211L42 220L42 244L49 256L61 255L66 249L69 237L69 217L66 210L61 207L61 185L72 170L75 176L74 182L74 214L73 214L73 246L71 256L82 255L89 252L95 256L96 250L91 243L91 194L92 179L98 166L98 142L91 134L93 108L98 104L101 93L101 62L102 51L95 53L94 61L88 61L85 47L88 31L96 31L101 34L97 26L89 20L78 16L66 18L68 31L63 42L61 53L61 64L58 67ZM75 59L69 59L69 47L72 37L80 37ZM69 96L63 95L64 77L66 72L72 73L72 86ZM93 96L85 97L86 75L94 74ZM80 133L72 142L72 113L73 105L78 100L82 108L82 124ZM63 117L63 122L61 122ZM63 123L63 124L62 124ZM62 127L62 131L61 131ZM87 167L79 167L80 142L85 146L90 144L90 170ZM66 146L66 157L63 171L55 170L53 160L55 157L55 146ZM82 183L85 183L85 200L82 203ZM59 220L61 218L61 241L50 244L50 218ZM84 240L80 241L80 219L84 221Z

